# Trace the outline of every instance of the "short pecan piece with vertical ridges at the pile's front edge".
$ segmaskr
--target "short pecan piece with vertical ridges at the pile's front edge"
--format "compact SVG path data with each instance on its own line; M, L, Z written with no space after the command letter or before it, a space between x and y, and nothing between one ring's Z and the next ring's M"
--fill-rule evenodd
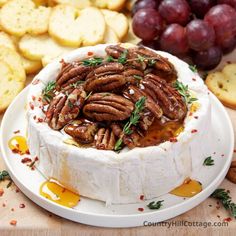
M109 128L100 128L97 132L95 146L101 150L113 150L116 144L116 137Z

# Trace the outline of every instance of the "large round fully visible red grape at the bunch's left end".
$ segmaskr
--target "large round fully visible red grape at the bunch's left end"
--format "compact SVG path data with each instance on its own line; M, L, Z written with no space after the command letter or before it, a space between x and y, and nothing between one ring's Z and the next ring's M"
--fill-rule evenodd
M156 10L147 8L136 12L132 26L134 33L139 38L151 41L161 34L164 22Z

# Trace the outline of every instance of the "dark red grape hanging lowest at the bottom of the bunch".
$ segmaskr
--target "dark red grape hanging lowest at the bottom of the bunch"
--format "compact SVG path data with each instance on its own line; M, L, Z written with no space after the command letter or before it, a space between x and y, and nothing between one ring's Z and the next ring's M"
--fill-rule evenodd
M216 46L193 54L194 64L203 70L211 70L215 68L220 63L221 58L222 51Z

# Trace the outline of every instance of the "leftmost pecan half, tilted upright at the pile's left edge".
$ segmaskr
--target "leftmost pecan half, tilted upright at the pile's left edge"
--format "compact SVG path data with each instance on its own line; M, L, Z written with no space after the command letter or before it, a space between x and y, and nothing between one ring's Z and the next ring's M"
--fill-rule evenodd
M60 93L50 102L46 111L46 122L55 130L64 127L75 119L85 101L86 93L80 87L74 89L68 96Z

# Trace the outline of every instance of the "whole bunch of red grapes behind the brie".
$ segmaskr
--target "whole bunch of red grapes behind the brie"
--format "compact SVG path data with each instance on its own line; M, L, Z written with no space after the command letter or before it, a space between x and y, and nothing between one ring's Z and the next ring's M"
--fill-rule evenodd
M133 31L141 44L216 67L236 47L236 0L138 0Z

